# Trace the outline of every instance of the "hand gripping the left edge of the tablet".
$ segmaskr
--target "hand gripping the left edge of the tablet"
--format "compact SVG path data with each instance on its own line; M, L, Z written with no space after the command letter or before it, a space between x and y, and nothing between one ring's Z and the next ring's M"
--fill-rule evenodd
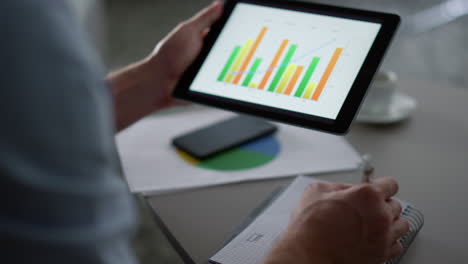
M180 23L150 56L108 76L117 130L153 111L176 104L171 97L172 90L200 53L204 37L222 10L222 4L215 1Z

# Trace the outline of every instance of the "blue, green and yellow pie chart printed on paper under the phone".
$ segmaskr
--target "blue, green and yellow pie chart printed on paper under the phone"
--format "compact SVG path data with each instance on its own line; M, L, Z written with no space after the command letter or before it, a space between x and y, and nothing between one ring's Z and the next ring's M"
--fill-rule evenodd
M177 154L186 162L198 168L218 171L239 171L261 167L272 162L279 153L280 144L274 136L257 139L206 160L197 160L177 150Z

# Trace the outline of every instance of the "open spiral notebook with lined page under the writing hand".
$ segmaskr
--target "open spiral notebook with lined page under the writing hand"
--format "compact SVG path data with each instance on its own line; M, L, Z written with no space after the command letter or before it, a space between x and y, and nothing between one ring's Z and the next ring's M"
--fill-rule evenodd
M234 237L213 257L213 264L260 264L275 241L285 230L292 209L299 201L307 185L319 180L298 176L288 187L264 202L239 228ZM399 263L414 238L424 224L424 217L412 205L399 200L402 205L402 217L408 219L410 231L400 240L405 248L402 256L387 261L385 264Z

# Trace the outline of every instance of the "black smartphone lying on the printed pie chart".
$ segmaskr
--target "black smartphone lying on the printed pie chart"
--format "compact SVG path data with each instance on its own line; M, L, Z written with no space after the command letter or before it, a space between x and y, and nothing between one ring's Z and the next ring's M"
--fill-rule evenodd
M250 116L237 116L191 131L172 140L189 155L203 160L249 141L270 135L277 127Z

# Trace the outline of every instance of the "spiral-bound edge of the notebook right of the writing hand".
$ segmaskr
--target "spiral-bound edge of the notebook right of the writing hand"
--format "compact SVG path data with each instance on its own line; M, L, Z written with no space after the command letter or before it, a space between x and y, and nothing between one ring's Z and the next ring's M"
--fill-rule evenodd
M411 205L408 205L401 212L401 215L402 217L408 220L410 226L410 230L408 231L408 233L406 233L400 238L400 243L403 245L404 251L403 254L401 254L401 256L389 260L385 262L385 264L400 263L400 260L406 254L406 251L408 250L409 246L411 245L411 243L413 243L414 238L417 236L419 230L421 230L421 228L424 225L424 215L418 209L412 207Z

